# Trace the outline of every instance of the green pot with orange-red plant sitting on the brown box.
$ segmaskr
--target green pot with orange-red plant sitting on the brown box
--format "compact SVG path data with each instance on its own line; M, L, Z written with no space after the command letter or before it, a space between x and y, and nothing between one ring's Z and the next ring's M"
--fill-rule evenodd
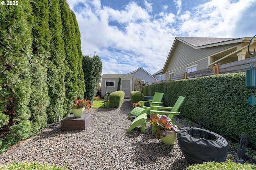
M90 100L75 98L75 102L72 106L72 113L74 117L82 117L82 115L84 114L85 108L89 110L90 106L91 106Z

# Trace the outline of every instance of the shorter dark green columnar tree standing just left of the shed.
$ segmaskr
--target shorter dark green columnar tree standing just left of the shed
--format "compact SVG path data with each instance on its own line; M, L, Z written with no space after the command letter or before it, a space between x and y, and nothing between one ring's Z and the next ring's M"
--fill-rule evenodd
M93 57L84 55L82 66L84 70L84 83L86 86L84 99L93 101L100 83L102 62L98 55L94 54Z

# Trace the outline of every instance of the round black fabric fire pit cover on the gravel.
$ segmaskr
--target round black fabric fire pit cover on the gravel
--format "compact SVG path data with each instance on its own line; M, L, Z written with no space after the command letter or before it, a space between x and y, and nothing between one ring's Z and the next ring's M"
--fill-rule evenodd
M226 160L228 142L222 136L197 127L179 130L178 144L182 154L195 163Z

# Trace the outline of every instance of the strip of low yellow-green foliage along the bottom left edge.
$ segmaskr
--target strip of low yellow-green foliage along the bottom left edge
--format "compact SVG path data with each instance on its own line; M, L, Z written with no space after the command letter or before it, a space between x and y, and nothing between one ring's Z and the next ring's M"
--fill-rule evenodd
M28 169L36 169L36 170L67 170L66 165L65 168L60 166L52 166L49 164L38 164L36 162L12 162L7 164L1 164L0 169L8 169L8 170L28 170Z

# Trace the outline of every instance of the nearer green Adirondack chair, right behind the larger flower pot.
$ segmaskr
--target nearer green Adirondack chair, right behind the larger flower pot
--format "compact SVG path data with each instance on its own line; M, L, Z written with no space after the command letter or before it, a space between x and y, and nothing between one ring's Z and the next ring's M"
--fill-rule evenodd
M174 115L180 114L180 112L178 112L178 109L180 108L184 100L185 100L185 97L180 96L173 107L151 106L150 115L152 113L158 114L159 117L161 117L161 115L168 115L168 117L172 119ZM161 109L161 110L158 110L158 109ZM163 111L162 109L169 110L169 111Z

